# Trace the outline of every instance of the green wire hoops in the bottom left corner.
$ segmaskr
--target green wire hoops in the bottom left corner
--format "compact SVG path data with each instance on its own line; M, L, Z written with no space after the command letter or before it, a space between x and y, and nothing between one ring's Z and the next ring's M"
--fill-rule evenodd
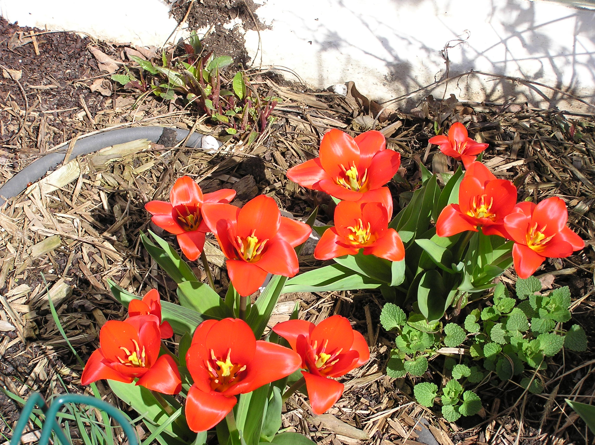
M128 438L128 443L130 445L139 445L134 428L132 428L132 425L130 425L130 422L126 416L124 416L124 413L115 408L115 406L104 402L104 400L98 399L96 397L83 396L83 394L64 394L56 397L54 402L52 402L52 405L48 406L39 393L32 393L29 396L29 399L27 399L27 403L21 411L21 416L18 419L16 427L14 428L10 445L18 445L20 443L21 436L23 435L23 431L27 425L27 421L29 421L29 417L33 413L33 409L35 409L36 405L39 406L43 413L45 413L45 422L43 422L41 437L39 438L38 444L47 445L49 436L52 434L52 431L54 431L58 441L60 441L62 445L71 445L66 438L64 431L62 431L62 428L56 421L58 410L60 410L60 408L62 408L62 406L64 406L66 403L80 403L83 405L95 406L95 408L107 412L108 415L110 415L120 424L124 430L124 434L126 434L126 437Z

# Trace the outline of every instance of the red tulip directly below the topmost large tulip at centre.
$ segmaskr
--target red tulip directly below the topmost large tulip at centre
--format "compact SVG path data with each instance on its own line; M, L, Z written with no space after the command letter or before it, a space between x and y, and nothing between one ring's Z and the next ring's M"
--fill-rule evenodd
M314 257L330 259L343 255L375 255L390 261L405 258L405 247L394 228L389 228L393 198L388 187L371 190L359 201L341 201L334 212L335 227L328 228Z

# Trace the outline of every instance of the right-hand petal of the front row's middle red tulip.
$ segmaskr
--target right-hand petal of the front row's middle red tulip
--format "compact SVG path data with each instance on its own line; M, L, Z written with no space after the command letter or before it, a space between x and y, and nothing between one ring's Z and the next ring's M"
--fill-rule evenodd
M256 341L256 353L246 377L236 385L234 393L249 393L267 383L287 377L302 365L297 353L280 344Z

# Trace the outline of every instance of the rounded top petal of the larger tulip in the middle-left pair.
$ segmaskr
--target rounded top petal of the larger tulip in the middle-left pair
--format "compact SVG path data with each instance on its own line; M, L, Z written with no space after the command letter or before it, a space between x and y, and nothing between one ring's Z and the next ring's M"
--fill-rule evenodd
M237 234L246 239L255 236L258 240L271 239L279 230L281 212L273 198L265 195L250 199L237 214Z

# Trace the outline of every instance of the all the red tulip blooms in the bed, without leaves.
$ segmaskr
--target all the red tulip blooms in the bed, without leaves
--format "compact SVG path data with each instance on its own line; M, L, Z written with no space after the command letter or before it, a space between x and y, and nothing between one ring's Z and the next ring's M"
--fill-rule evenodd
M446 206L438 218L439 236L481 227L485 234L511 239L515 269L523 278L533 274L544 258L562 258L583 248L583 240L566 227L568 212L563 200L516 203L511 181L497 179L475 161L487 144L470 139L462 124L454 124L448 137L436 136L430 142L460 159L467 169L459 203ZM320 158L287 172L300 185L340 200L334 227L322 235L315 258L355 255L361 249L364 255L390 261L404 258L403 242L389 228L393 198L386 187L399 166L399 153L386 149L380 132L367 131L353 139L331 130L322 138ZM294 247L308 239L311 228L282 217L273 198L258 196L237 208L230 205L234 196L229 189L203 194L192 178L184 176L174 184L170 202L151 201L146 209L156 225L177 236L191 261L201 255L205 234L212 232L227 258L231 283L245 297L262 286L267 274L297 274ZM186 394L185 415L193 431L205 431L220 422L236 405L237 394L249 393L297 369L302 369L312 410L325 412L343 393L343 384L334 378L369 359L364 337L339 315L318 325L290 320L275 325L273 331L291 349L256 339L242 319L209 319L196 328L186 354L192 386ZM180 393L179 360L169 353L159 355L161 339L172 335L171 326L161 320L159 294L151 290L142 300L130 303L129 318L108 321L102 327L101 346L87 362L82 383L107 378L136 381L159 393Z

